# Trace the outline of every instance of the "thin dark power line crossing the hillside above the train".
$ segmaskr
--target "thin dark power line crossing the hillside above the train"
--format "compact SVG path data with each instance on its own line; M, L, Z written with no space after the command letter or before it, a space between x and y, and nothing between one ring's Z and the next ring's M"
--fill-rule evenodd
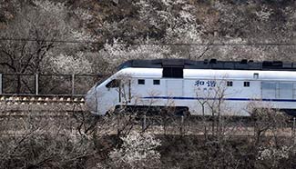
M97 44L97 45L106 45L108 43L105 42L96 42L96 41L77 41L77 40L47 40L47 39L29 39L29 38L6 38L1 37L0 41L15 41L15 42L45 42L45 43L62 43L62 44ZM296 43L244 43L244 44L234 44L234 43L205 43L205 44L185 44L185 43L121 43L121 42L113 42L109 44L115 45L171 45L171 46L178 46L178 45L197 45L197 46L291 46L296 45Z

